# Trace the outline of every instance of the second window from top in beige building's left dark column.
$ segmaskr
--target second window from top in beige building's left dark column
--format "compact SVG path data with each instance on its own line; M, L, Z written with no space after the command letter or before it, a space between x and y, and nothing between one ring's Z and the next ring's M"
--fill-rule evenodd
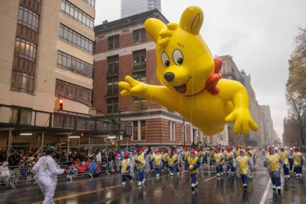
M36 60L37 45L16 37L15 54L21 58L34 62Z

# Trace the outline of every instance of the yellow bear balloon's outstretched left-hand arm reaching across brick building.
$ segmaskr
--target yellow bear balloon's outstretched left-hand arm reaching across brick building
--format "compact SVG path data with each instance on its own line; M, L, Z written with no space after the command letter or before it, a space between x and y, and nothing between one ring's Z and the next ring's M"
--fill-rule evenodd
M130 76L126 76L125 82L119 82L118 86L123 90L120 92L122 96L135 96L147 98L156 101L162 106L168 107L173 111L179 110L178 95L173 93L165 86L148 85L134 80Z

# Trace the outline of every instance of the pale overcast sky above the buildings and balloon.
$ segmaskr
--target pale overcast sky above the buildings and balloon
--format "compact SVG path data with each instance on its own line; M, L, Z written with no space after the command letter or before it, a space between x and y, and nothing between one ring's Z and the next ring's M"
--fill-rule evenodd
M121 0L96 0L95 25L120 18ZM304 0L162 0L162 13L179 22L191 5L204 12L201 35L213 55L231 55L251 75L260 105L269 105L274 130L283 134L287 115L285 84L297 27L306 28Z

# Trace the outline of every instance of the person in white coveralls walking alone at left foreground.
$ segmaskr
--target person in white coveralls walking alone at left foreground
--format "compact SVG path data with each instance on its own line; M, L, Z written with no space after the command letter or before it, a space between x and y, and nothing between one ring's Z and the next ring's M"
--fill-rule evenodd
M55 151L52 147L47 147L45 155L39 158L33 166L32 172L36 173L36 183L44 195L43 204L54 203L53 196L57 185L57 175L66 173L66 169L61 169L53 157Z

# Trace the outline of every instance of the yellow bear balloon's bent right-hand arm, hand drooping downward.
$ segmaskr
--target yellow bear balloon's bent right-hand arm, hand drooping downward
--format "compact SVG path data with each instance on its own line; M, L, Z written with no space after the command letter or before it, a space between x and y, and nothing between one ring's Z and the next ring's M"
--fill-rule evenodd
M245 87L237 81L221 79L218 82L220 89L218 96L223 101L232 101L234 110L225 117L225 122L233 122L233 132L238 134L240 131L243 135L249 134L249 128L253 131L258 130L257 124L253 121L249 108L249 98Z

